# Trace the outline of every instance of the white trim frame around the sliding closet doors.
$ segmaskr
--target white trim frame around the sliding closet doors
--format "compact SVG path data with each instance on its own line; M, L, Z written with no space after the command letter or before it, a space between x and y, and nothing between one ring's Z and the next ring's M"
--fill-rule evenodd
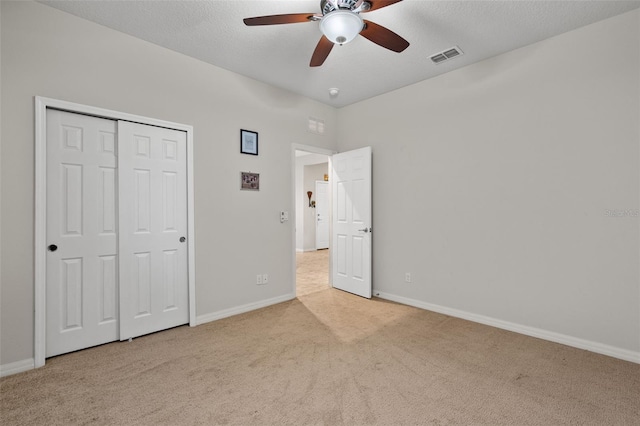
M195 299L195 232L194 232L194 192L193 192L193 126L164 120L127 114L103 108L57 99L35 97L35 227L34 227L34 272L35 272L35 319L34 319L34 364L45 364L46 344L46 218L47 218L47 108L79 114L93 115L112 120L133 121L151 126L166 127L184 131L187 134L187 243L189 286L189 325L196 325Z

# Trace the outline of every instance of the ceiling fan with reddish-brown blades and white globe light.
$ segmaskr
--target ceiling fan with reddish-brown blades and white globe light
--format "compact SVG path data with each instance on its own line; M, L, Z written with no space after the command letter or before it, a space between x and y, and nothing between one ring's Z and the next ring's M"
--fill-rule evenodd
M360 17L360 13L371 12L398 3L402 0L321 0L322 15L315 13L289 13L284 15L256 16L245 18L248 26L295 24L319 21L322 37L311 56L312 67L322 65L334 44L349 43L358 34L379 46L394 52L402 52L409 42L393 31Z

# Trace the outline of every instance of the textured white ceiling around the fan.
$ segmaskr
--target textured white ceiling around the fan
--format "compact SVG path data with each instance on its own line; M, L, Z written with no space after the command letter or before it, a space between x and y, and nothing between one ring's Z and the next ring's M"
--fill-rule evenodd
M411 45L404 52L357 37L335 46L321 67L310 68L321 35L317 22L247 27L242 19L320 13L319 0L41 3L335 107L640 7L640 0L404 0L363 14L407 39ZM429 59L452 46L464 55L439 65ZM331 87L340 89L337 97L329 96Z

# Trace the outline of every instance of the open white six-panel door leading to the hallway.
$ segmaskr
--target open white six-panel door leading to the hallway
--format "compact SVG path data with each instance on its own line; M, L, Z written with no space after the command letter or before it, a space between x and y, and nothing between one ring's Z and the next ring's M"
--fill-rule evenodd
M333 286L371 298L371 147L331 163Z

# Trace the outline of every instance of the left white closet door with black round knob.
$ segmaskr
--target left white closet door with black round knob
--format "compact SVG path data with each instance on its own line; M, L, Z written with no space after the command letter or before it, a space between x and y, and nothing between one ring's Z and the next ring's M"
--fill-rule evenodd
M118 340L116 122L47 110L46 350Z

